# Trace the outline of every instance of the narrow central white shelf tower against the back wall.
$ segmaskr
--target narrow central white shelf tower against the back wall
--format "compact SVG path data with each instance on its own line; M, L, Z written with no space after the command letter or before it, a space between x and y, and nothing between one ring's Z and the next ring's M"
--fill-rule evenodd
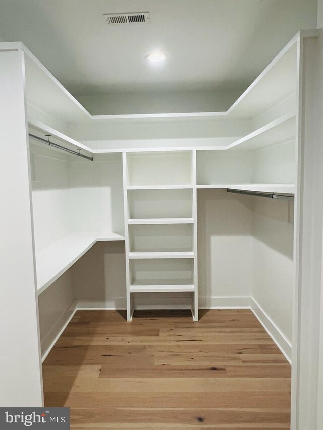
M195 153L124 153L123 168L127 319L134 293L185 292L197 321Z

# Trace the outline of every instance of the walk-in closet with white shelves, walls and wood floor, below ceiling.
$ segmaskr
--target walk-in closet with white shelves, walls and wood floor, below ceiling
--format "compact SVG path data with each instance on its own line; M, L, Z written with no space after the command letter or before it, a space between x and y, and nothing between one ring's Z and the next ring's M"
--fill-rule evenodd
M227 109L120 114L0 43L0 406L319 428L322 40L299 31Z

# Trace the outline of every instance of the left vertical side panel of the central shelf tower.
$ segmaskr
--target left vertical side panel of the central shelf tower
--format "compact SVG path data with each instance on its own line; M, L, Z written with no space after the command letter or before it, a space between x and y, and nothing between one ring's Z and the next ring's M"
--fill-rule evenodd
M125 252L126 252L126 298L127 298L127 321L132 320L133 306L132 298L130 296L130 266L129 266L129 206L128 206L128 165L127 153L122 153L122 171L123 171L123 204L124 204L124 217L125 217Z

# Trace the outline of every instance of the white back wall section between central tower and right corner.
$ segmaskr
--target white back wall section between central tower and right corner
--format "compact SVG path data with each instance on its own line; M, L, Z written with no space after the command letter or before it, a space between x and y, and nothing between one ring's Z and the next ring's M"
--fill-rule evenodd
M253 271L253 207L249 196L198 190L198 290L200 306L223 297L249 297Z

